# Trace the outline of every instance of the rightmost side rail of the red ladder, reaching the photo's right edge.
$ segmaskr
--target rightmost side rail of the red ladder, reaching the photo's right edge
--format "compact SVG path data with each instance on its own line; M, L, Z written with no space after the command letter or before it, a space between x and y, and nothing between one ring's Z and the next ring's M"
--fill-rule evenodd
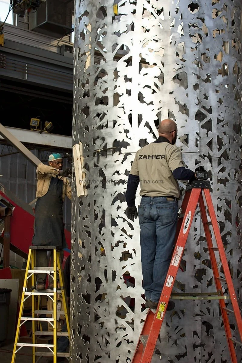
M232 303L232 306L233 306L235 319L237 321L239 336L240 336L240 339L241 339L241 342L242 342L242 318L241 318L241 313L240 313L240 310L239 310L239 305L238 305L236 293L235 293L235 290L234 290L233 280L232 280L231 275L230 275L229 265L228 265L228 262L227 262L225 249L223 247L223 242L222 242L222 238L221 238L221 234L220 234L220 229L218 227L218 222L217 222L216 214L215 214L214 207L213 207L212 197L210 195L209 189L204 189L204 195L205 195L206 203L208 205L209 215L210 215L210 218L211 218L211 221L212 221L212 227L213 227L215 239L216 239L217 246L218 246L218 251L219 251L219 254L220 254L220 258L221 258L223 272L225 274L227 287L228 287L228 290L229 290L230 300L231 300L231 303Z

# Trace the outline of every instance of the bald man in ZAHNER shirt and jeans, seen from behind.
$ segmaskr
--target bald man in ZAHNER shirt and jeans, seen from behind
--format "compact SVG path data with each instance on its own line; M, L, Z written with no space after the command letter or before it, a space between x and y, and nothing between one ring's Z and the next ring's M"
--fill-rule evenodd
M171 262L180 198L177 179L195 179L195 173L184 167L181 150L175 146L176 138L175 121L161 121L159 138L136 152L128 177L126 213L132 221L138 216L135 195L140 183L141 267L145 307L150 309L157 308ZM174 306L170 300L167 310Z

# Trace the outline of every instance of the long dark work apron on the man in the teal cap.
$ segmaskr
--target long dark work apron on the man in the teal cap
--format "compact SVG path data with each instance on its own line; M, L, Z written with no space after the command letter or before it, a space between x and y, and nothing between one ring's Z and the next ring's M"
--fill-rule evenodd
M63 180L51 178L48 192L37 199L33 245L67 248L63 227L62 189Z

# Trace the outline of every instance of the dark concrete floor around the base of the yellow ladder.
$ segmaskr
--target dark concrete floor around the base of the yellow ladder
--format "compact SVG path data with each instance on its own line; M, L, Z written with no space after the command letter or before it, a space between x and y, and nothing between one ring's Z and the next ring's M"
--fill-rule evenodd
M13 342L12 341L6 341L3 346L0 347L0 361L1 363L11 363L12 359L12 353L13 353ZM37 361L36 357L36 361ZM41 357L40 360L38 360L38 363L49 363L50 358ZM15 363L32 363L32 348L30 347L23 347L17 353ZM68 360L65 359L63 363L68 363Z

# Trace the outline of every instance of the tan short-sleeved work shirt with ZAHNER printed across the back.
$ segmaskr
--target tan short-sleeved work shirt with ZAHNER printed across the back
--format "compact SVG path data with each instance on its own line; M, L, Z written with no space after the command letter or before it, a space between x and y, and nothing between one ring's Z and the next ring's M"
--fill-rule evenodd
M139 175L140 195L180 198L180 189L172 172L184 167L181 150L169 142L152 142L136 152L130 174Z

